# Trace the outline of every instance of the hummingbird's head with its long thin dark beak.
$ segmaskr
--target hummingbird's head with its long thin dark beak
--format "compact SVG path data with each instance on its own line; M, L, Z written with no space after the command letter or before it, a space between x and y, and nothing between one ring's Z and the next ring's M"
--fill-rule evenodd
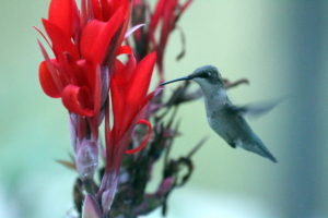
M162 83L161 85L166 85L169 83L178 82L178 81L188 81L192 80L198 83L201 87L206 86L221 86L223 87L223 80L221 74L219 73L218 69L213 65L204 65L201 68L196 69L190 75L179 77L176 80L167 81Z

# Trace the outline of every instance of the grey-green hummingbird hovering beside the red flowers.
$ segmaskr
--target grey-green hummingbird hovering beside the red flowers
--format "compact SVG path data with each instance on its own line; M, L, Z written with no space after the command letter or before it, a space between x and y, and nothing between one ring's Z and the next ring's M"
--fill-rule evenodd
M242 147L277 162L277 159L244 119L246 113L267 112L274 107L272 104L260 107L233 105L226 95L223 78L213 65L198 68L190 75L162 83L161 86L190 80L196 82L202 90L208 122L216 134L233 148Z

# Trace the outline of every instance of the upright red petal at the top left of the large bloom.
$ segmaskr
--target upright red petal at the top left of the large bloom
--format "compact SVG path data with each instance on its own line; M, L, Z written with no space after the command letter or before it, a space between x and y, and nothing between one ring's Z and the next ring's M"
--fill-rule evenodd
M51 0L48 20L67 36L72 37L79 24L78 7L74 0Z

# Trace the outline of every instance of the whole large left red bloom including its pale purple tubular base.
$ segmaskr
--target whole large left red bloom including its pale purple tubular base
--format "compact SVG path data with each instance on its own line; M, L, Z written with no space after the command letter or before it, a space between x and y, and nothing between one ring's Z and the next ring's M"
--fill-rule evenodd
M39 43L45 58L39 82L45 94L61 98L70 113L75 162L81 179L92 178L97 166L98 126L105 114L109 72L130 19L129 0L51 0L43 20L54 58Z

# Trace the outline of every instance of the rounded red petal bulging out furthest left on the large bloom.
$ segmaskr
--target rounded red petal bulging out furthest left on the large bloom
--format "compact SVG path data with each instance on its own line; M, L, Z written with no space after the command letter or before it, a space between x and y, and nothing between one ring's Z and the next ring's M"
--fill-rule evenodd
M56 85L56 82L50 71L47 68L46 61L40 62L38 68L38 78L45 94L52 98L59 98L61 96L60 88Z

